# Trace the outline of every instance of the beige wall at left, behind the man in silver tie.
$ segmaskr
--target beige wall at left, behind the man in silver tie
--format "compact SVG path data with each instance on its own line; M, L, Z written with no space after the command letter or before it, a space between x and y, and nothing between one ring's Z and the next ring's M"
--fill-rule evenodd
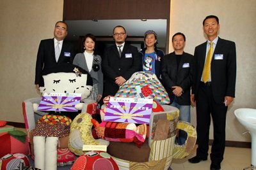
M0 120L24 122L22 101L37 97L35 62L41 39L53 38L63 0L0 1Z

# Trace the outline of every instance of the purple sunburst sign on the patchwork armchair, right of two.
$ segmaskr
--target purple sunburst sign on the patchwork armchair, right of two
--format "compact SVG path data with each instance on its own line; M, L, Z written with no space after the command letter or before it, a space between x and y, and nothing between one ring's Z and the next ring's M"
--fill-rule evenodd
M104 121L149 124L153 99L110 97Z

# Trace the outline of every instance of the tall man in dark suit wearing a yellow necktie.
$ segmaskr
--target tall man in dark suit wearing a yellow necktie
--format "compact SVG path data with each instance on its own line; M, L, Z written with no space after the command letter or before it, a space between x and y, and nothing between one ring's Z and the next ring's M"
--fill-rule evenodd
M195 74L191 103L196 104L196 156L191 163L207 160L211 117L214 141L211 148L211 169L220 169L225 150L227 108L235 97L236 45L218 37L219 19L210 15L204 19L207 41L195 48Z

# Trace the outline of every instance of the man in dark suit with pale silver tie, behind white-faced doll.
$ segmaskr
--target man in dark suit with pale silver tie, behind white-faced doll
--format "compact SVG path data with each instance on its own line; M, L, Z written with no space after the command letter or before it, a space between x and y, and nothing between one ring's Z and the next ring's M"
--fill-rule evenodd
M68 26L63 21L58 21L54 28L54 38L43 39L40 42L36 58L35 87L44 86L42 72L45 69L68 63L74 59L74 48L71 43L63 40L67 36Z

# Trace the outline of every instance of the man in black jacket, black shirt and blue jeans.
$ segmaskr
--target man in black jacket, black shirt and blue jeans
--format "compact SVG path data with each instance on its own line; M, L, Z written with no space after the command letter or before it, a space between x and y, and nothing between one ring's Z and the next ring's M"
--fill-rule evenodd
M171 100L171 106L180 110L180 120L190 122L190 88L192 85L193 55L184 52L186 37L177 32L172 37L174 52L164 55L162 60L163 85ZM187 134L179 132L177 142L185 143Z

